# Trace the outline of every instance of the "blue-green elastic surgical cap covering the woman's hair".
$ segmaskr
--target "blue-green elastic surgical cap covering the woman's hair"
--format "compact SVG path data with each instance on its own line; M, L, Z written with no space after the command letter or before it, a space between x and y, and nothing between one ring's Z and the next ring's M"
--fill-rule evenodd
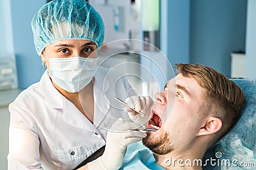
M62 39L88 39L100 48L104 23L100 14L85 0L54 0L36 12L31 21L36 52Z

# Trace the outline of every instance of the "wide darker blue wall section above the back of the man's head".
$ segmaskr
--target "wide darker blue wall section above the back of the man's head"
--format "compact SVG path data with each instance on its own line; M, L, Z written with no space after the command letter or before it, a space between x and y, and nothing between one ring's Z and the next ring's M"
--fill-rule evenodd
M245 49L245 0L191 1L190 62L230 76L230 53Z

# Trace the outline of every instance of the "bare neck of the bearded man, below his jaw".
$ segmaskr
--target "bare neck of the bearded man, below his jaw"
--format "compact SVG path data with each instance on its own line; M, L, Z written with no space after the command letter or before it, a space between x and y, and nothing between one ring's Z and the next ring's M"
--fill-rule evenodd
M188 151L180 153L169 153L166 155L159 155L154 153L156 159L156 164L163 167L164 169L202 169L202 157L205 152L198 151Z

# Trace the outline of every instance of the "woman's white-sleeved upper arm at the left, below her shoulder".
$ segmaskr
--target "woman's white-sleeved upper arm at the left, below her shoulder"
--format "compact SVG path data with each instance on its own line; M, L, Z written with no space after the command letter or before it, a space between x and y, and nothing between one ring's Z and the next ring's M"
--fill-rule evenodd
M44 169L34 119L19 104L10 104L8 170Z

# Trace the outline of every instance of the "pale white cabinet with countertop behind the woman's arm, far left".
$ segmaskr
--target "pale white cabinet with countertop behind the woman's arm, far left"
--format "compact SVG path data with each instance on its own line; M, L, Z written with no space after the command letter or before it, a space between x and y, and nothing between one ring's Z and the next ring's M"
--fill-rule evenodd
M0 169L7 169L10 113L8 105L19 95L21 90L0 91Z

